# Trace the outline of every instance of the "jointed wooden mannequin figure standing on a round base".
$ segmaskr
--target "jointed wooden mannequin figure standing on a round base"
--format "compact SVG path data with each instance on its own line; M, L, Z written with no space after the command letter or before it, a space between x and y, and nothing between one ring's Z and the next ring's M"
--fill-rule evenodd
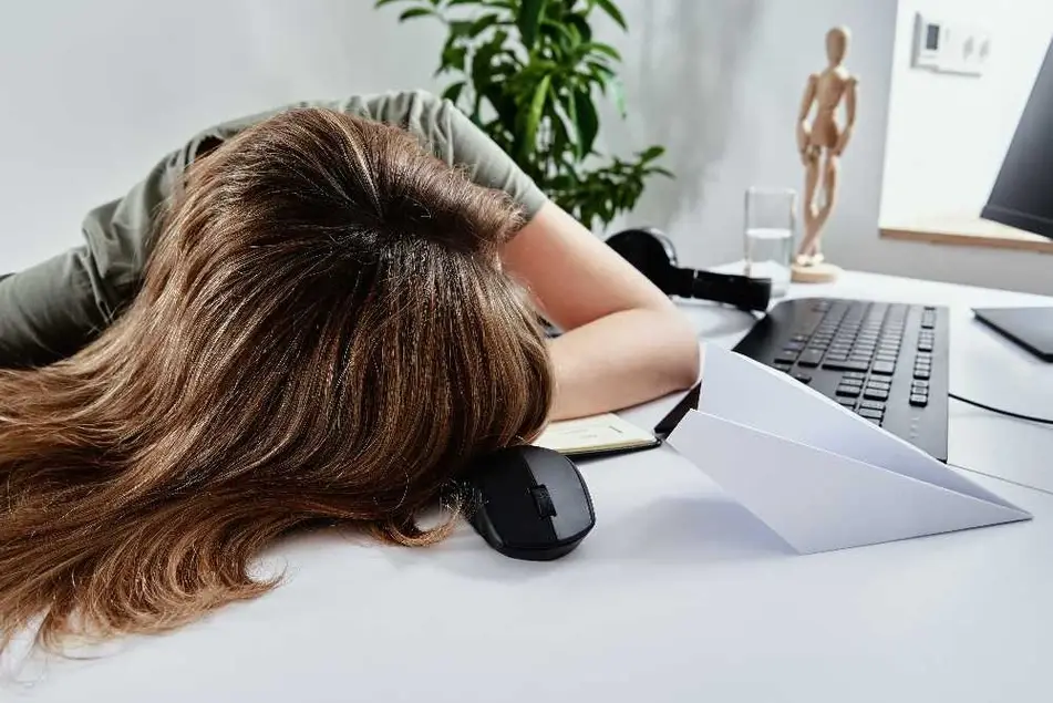
M837 201L837 172L840 157L851 138L856 124L857 76L844 65L850 32L836 27L826 33L828 65L822 73L808 76L808 85L797 116L797 151L805 166L804 237L793 265L793 279L798 282L825 282L837 278L836 266L826 263L820 250L823 227ZM837 120L837 108L845 104L845 124ZM815 117L808 124L812 106ZM822 194L819 176L822 175ZM822 203L819 201L822 195Z

